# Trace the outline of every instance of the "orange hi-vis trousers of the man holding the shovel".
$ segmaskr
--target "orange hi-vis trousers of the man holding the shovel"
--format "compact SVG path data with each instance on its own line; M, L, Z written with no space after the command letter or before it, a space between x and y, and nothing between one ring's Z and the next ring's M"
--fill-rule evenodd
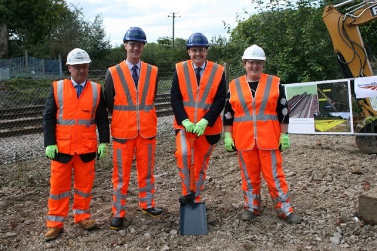
M175 137L176 151L175 159L182 185L182 195L191 194L190 191L190 168L195 173L195 202L200 202L200 194L206 180L206 171L212 151L215 145L208 143L205 136L195 139L194 147L191 149L190 142L184 130L179 130ZM192 157L194 154L194 158ZM192 158L194 164L192 165Z

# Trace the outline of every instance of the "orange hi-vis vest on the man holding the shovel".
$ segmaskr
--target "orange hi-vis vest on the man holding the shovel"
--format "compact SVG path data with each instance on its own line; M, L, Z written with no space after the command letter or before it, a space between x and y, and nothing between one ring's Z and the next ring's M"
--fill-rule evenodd
M215 99L217 89L223 76L224 67L207 61L206 68L198 86L193 61L187 60L175 65L179 79L179 89L182 94L183 108L190 121L197 123L210 109ZM174 118L174 129L184 129L178 126ZM212 127L207 127L204 135L217 135L222 132L221 116L216 119Z

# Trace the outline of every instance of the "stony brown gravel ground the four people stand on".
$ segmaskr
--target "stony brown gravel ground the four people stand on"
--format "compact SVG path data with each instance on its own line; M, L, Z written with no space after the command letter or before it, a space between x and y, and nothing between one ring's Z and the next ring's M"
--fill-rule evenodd
M163 217L141 213L133 170L126 216L130 225L120 231L109 228L109 156L97 162L92 191L92 217L98 226L78 228L70 211L64 232L50 242L43 239L50 175L43 136L0 139L0 250L377 250L377 226L358 219L359 196L377 186L377 156L361 153L354 137L291 135L291 148L283 157L291 203L303 218L297 225L276 217L264 183L261 215L251 222L240 219L244 201L237 157L220 142L203 191L209 233L181 236L180 181L174 137L167 129L171 118L160 119L155 199Z

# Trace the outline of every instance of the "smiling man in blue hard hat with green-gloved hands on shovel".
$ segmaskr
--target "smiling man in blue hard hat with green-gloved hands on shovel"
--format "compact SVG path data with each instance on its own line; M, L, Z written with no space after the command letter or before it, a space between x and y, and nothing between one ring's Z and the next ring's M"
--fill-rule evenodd
M208 48L204 34L193 33L189 37L186 49L190 60L175 65L170 91L176 135L175 158L182 185L180 203L200 202L210 156L222 132L220 113L226 98L224 67L206 60ZM195 173L195 185L192 183L192 186L195 188L190 189L192 168Z

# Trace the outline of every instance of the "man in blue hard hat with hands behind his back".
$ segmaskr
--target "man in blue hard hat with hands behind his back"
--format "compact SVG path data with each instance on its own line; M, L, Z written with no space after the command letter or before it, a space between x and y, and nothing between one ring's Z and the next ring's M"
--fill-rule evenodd
M136 155L139 206L143 213L159 217L162 209L154 202L154 152L157 115L154 99L157 93L157 67L140 60L147 42L144 31L131 27L123 38L126 60L108 69L105 79L105 101L112 114L113 137L113 217L110 228L122 228L131 166Z

